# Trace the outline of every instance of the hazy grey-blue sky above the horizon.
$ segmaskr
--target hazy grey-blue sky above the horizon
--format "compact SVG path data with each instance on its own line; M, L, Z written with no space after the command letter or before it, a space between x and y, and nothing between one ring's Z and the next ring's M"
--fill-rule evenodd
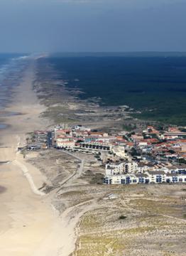
M186 0L0 0L0 52L186 51Z

